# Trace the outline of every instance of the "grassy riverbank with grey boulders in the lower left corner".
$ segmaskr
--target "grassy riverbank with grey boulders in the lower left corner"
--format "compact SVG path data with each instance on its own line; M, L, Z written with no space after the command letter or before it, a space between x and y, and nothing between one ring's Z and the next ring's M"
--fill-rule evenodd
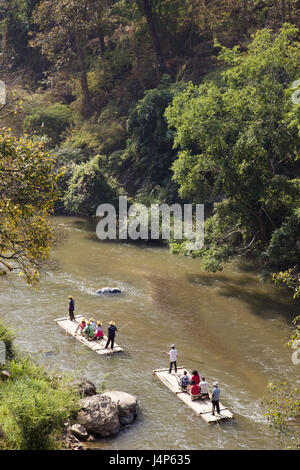
M7 361L0 366L0 450L83 450L85 441L115 436L133 423L137 399L97 391L37 365L13 347L13 334L0 322Z

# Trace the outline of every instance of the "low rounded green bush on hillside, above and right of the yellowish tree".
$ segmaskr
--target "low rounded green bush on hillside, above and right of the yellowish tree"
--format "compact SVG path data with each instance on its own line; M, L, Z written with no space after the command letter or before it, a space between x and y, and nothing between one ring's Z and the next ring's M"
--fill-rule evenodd
M46 108L35 108L23 121L24 130L46 135L52 146L58 144L62 134L72 124L72 112L64 104L55 103Z

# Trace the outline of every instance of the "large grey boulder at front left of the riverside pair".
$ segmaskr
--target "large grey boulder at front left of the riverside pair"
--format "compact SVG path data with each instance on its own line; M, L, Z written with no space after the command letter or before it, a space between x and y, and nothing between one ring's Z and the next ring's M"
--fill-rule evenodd
M77 423L82 424L89 433L109 437L119 432L118 405L109 396L82 398L80 407Z

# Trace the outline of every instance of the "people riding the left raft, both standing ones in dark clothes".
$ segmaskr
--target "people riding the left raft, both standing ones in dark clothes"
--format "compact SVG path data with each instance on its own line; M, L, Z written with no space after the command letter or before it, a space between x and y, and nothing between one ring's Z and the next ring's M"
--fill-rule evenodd
M75 321L74 315L75 302L71 295L69 295L69 317L71 321ZM117 332L117 327L114 321L109 322L108 332L107 332L107 342L105 349L110 345L111 349L114 348L115 336ZM81 319L81 322L75 330L75 335L80 334L88 339L88 341L101 340L104 337L102 331L102 322L96 321L94 318L90 318L88 321L85 318Z

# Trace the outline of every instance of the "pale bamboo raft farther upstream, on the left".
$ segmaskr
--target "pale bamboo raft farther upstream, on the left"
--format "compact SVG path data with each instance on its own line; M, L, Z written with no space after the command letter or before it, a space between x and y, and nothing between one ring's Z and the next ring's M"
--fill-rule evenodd
M86 339L80 333L77 333L75 335L76 328L79 325L82 318L84 318L82 315L76 315L75 321L71 321L69 317L56 318L56 320L54 321L59 326L61 326L67 333L69 333L71 336L73 336L78 341L80 341L80 343L85 344L85 346L92 349L97 354L100 354L100 356L107 356L108 354L114 354L116 352L123 351L123 349L120 346L118 346L116 343L114 344L114 349L111 349L110 346L108 349L105 349L105 345L107 341L107 336L105 335L103 339L101 340L92 340L92 341L88 341L88 339Z

